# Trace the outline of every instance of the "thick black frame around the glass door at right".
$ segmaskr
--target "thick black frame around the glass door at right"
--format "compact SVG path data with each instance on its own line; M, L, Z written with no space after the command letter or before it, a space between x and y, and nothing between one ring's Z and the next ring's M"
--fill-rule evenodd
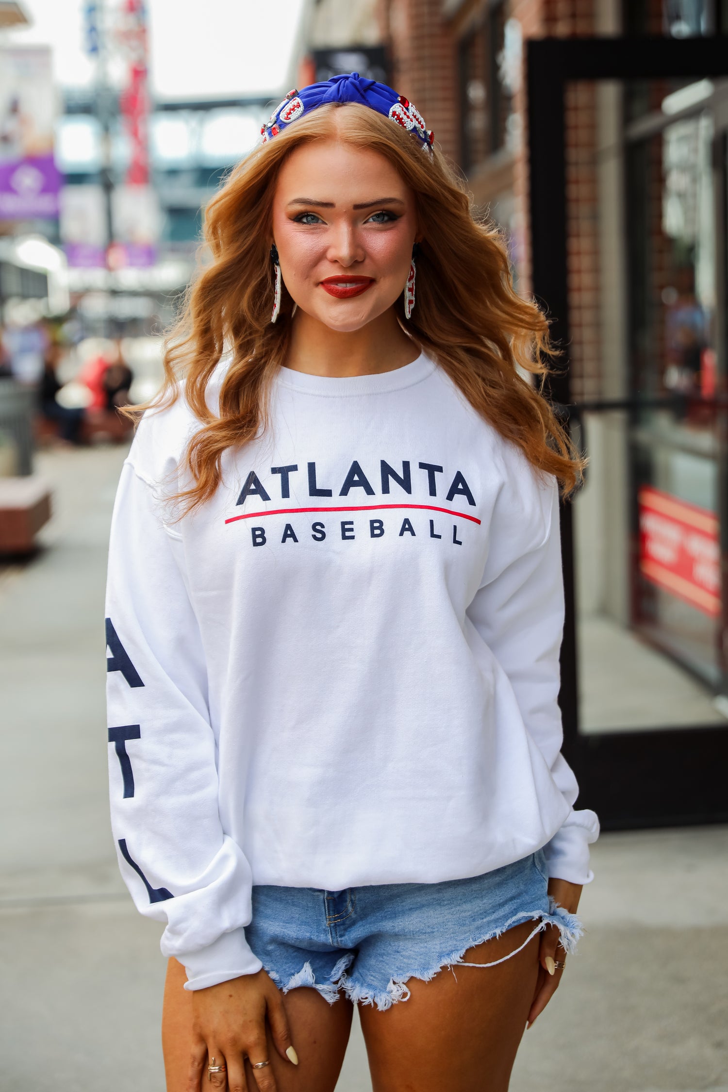
M529 211L533 290L563 356L549 396L572 404L569 368L564 88L584 80L728 76L728 39L544 38L527 44ZM605 829L728 821L728 723L582 735L571 505L562 506L566 619L561 650L564 755L578 778L580 806ZM726 562L724 555L724 577Z

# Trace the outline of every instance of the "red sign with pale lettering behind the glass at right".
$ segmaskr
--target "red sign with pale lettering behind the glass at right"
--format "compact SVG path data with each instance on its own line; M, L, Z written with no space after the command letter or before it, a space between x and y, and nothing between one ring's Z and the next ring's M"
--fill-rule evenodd
M697 607L720 614L718 518L697 505L640 489L640 571L646 579Z

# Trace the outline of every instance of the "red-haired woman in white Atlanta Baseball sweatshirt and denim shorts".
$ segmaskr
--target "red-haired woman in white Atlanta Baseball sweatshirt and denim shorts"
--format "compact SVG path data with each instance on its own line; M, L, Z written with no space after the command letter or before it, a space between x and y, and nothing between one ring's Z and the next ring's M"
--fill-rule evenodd
M580 934L558 488L513 292L416 109L291 93L122 473L115 836L166 923L168 1089L508 1088ZM115 753L116 752L116 753Z

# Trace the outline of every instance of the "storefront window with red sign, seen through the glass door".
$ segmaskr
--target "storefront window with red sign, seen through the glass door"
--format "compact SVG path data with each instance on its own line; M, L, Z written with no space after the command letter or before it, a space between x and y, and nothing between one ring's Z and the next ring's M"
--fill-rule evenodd
M725 224L716 200L725 166L714 164L714 153L724 155L724 95L720 81L705 78L676 88L632 84L625 100L630 393L654 400L629 420L639 533L631 621L720 696L718 710L728 709L725 441L715 401L725 391L717 275ZM703 720L723 715L713 707Z

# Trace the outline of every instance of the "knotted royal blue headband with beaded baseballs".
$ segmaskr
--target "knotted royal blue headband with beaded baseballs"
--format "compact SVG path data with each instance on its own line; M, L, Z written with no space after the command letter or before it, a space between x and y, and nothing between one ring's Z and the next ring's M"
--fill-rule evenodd
M361 103L417 138L422 149L432 151L434 133L429 130L419 110L404 97L397 95L385 83L365 80L358 72L335 75L323 83L312 83L302 91L289 91L283 103L261 129L261 143L273 140L302 114L309 114L324 103Z

